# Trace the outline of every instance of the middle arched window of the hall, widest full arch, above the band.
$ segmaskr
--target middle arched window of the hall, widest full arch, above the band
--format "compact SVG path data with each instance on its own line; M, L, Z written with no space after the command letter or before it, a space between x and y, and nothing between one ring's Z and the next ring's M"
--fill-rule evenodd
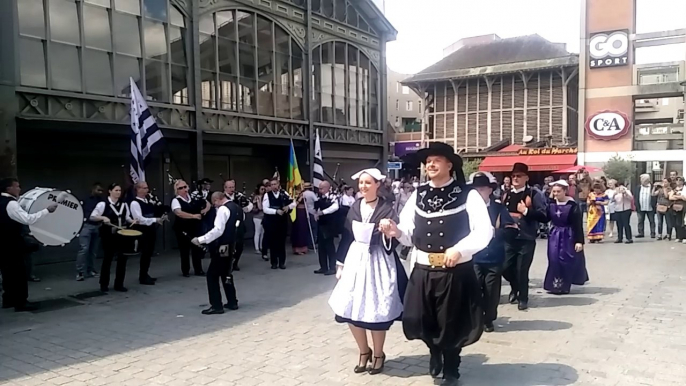
M240 10L200 20L205 108L303 119L303 53L272 20Z

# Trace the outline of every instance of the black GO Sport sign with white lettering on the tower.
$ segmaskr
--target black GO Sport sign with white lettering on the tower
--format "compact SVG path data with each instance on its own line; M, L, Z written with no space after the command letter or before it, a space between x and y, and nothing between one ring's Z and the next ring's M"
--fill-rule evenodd
M626 66L629 64L629 31L592 34L588 55L590 68Z

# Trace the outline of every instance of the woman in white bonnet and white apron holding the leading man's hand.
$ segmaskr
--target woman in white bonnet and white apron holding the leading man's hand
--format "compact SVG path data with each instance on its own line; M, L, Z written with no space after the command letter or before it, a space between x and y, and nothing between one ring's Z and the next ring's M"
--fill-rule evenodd
M361 198L345 219L338 247L338 283L329 299L336 321L348 324L360 350L355 373L378 374L383 370L386 332L403 313L407 275L395 253L398 244L379 232L382 219L397 220L393 203L378 194L384 178L375 168L352 176L358 181ZM367 331L371 333L373 350Z

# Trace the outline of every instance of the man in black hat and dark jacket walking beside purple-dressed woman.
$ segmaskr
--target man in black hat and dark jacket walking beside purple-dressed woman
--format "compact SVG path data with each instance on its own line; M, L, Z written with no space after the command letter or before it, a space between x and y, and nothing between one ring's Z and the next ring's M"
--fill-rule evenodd
M529 308L529 268L536 250L538 223L547 221L546 199L528 186L528 181L529 167L517 162L512 168L512 189L503 196L503 204L519 228L519 235L505 243L503 277L510 282L509 301L519 303L520 311Z

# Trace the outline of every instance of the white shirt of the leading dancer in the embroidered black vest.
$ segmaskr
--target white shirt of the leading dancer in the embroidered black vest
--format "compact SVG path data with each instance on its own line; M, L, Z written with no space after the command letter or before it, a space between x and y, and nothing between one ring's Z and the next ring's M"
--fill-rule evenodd
M450 180L446 185L452 183ZM429 184L434 188L440 188L441 186L434 186L431 182ZM488 207L484 202L479 192L472 190L467 195L466 211L469 216L469 234L458 241L454 245L460 254L460 260L458 264L466 263L472 259L472 256L477 252L488 246L493 238L493 225L491 224L491 217L488 215ZM412 246L412 233L414 232L414 218L417 209L417 191L412 192L412 195L407 200L403 211L400 212L400 222L398 223L398 229L402 232L402 235L398 238L401 244ZM446 232L450 229L446 229ZM429 254L424 251L420 251L417 248L412 250L410 256L411 264L414 266L415 263L429 265Z

